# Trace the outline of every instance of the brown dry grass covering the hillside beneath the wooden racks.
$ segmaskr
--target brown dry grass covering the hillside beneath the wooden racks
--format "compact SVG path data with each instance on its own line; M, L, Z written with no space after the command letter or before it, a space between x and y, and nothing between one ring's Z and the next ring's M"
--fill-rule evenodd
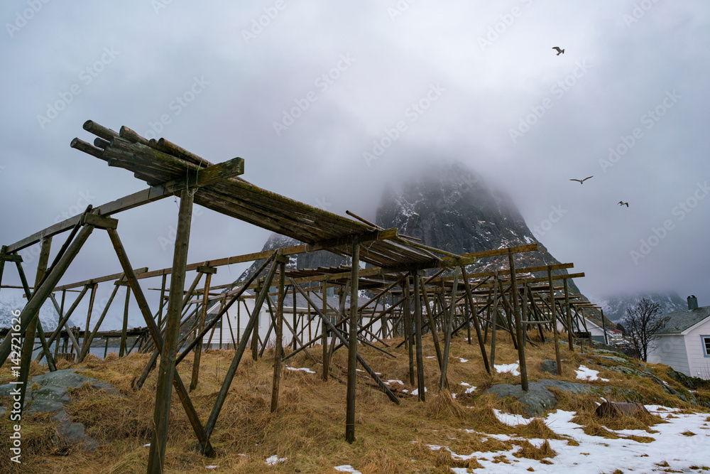
M532 334L532 333L531 333ZM513 363L518 360L510 340L499 335L496 347L496 364ZM525 470L532 461L540 466L556 462L555 446L578 446L572 436L555 431L544 419L536 419L525 425L510 426L501 422L493 409L522 414L519 402L512 399L498 400L483 392L493 384L520 383L519 377L510 373L486 374L478 346L469 345L463 338L452 341L449 360L449 390L439 393L439 367L435 350L428 338L425 342L425 385L427 401L421 403L404 391L412 391L408 382L408 357L404 348L395 349L390 341L388 348L397 357L389 357L373 348L360 348L361 354L383 380L401 397L397 406L385 394L379 392L364 372L358 372L356 442L344 441L346 386L346 352L334 354L332 378L322 382L320 364L312 362L300 353L288 361L288 367L307 367L317 372L285 369L280 383L279 408L271 413L271 377L273 375L273 349L267 350L263 359L253 362L249 355L242 359L229 396L219 416L212 436L212 444L218 451L217 458L204 458L195 451L195 436L187 421L182 406L173 395L170 415L170 445L167 451L166 472L169 473L335 473L335 466L351 465L361 473L422 473L452 472L450 468L481 468L479 460L454 460L449 451L433 449L431 446L447 446L456 453L482 451L482 460L500 462L501 467L510 465ZM530 381L537 379L563 379L581 382L574 372L580 365L599 371L599 377L608 382L589 382L599 387L621 387L608 398L623 401L628 390L635 390L645 403L676 407L687 412L703 411L699 406L683 402L678 397L667 394L662 387L645 377L624 375L608 370L610 360L599 355L569 352L562 349L563 375L557 377L539 370L544 359L554 359L555 351L551 343L532 347L528 345L528 375ZM207 420L212 404L217 396L220 383L234 352L209 350L202 355L200 384L191 394L202 423ZM320 347L310 353L320 360ZM54 439L56 424L51 414L37 414L23 417L23 464L18 468L9 461L9 456L0 458L0 470L22 473L143 473L146 469L148 448L153 424L155 403L155 371L148 378L140 392L131 385L140 376L148 361L148 355L131 355L118 359L115 354L106 360L89 356L80 365L60 362L58 368L83 367L82 375L94 377L113 384L124 397L97 392L88 386L73 389L72 402L67 405L67 413L73 421L86 426L87 435L97 438L104 446L93 453L84 453L75 448L60 446ZM465 361L465 362L464 362ZM635 362L631 362L634 364ZM192 362L186 359L179 367L185 385L190 382ZM666 374L665 366L650 366L657 377L679 392L687 393L685 387L674 382ZM33 373L42 372L43 367L33 366ZM9 367L0 370L0 384L8 383ZM463 383L463 384L462 384ZM466 385L467 384L467 385ZM470 386L476 387L469 390ZM469 391L470 393L466 393ZM575 423L583 426L587 435L613 439L625 437L613 430L637 429L645 433L628 435L629 440L646 443L653 439L652 427L661 422L657 414L637 418L599 419L594 414L599 395L572 395L556 392L559 399L558 410L576 412ZM697 397L709 397L710 391L699 389ZM454 398L455 397L455 398ZM6 405L8 399L2 400ZM7 414L0 424L0 439L7 440L10 433ZM469 431L465 431L469 430ZM657 432L657 431L655 431ZM648 433L648 434L646 434ZM508 436L493 436L508 435ZM530 440L545 440L531 443ZM3 441L6 443L7 441ZM519 446L515 456L499 456L510 448ZM651 446L651 445L649 445ZM559 448L557 448L559 451ZM649 448L652 451L652 448ZM271 456L288 458L275 465L267 465ZM500 458L496 461L496 456ZM584 456L581 456L584 457ZM528 462L530 461L530 462ZM515 465L518 463L518 465ZM217 468L207 468L217 465ZM702 467L702 466L700 466ZM214 470L212 470L214 469ZM539 467L538 467L539 470ZM482 472L478 470L476 472ZM491 471L486 471L491 472ZM503 472L502 470L500 472ZM506 471L507 472L507 471Z

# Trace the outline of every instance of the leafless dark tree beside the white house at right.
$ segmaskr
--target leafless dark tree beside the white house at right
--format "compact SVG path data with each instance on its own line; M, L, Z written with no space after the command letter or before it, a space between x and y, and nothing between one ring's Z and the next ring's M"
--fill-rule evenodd
M660 310L659 303L643 298L627 307L626 315L621 319L630 345L643 362L648 358L648 345L658 338L658 331L670 321L670 316L661 316Z

